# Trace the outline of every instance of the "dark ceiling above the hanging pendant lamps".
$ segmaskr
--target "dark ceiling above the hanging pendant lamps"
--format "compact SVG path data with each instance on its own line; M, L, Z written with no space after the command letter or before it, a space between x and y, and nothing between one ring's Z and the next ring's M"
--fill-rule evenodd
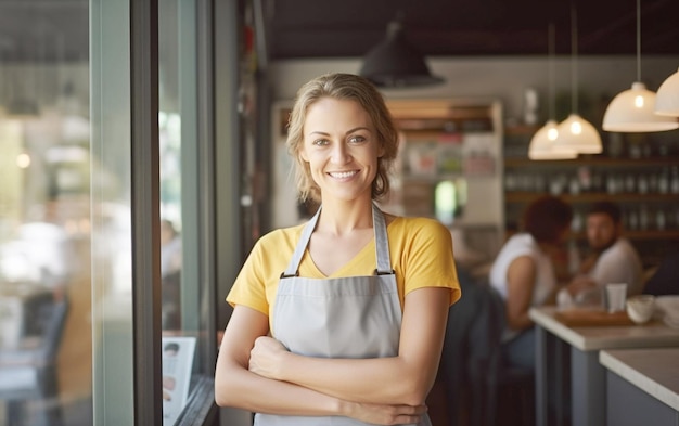
M637 53L635 0L262 0L271 60L362 56L401 15L426 56ZM572 21L575 10L575 21ZM679 0L641 1L641 54L679 54ZM577 24L577 25L573 25Z

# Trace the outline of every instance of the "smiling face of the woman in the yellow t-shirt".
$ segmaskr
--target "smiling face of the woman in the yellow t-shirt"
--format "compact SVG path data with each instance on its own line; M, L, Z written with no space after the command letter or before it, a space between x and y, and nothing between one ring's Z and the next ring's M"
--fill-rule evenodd
M359 103L321 98L307 111L299 156L308 162L322 199L371 199L381 145Z

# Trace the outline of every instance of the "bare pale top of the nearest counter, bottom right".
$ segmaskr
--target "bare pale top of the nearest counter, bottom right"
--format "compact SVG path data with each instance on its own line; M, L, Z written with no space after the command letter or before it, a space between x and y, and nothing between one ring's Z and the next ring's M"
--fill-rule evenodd
M599 362L679 411L679 348L603 350Z

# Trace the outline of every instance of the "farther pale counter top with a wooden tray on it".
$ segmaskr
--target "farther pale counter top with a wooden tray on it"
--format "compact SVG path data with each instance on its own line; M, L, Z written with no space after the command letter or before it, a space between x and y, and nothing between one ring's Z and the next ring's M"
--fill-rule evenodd
M655 321L642 325L571 327L554 315L555 306L530 308L530 319L582 351L650 347L679 347L679 330Z

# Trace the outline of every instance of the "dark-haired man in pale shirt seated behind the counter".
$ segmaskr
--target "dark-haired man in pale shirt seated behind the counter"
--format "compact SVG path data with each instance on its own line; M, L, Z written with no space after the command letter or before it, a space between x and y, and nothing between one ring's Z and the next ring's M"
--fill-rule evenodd
M601 302L601 287L608 283L627 283L627 294L638 295L643 289L643 269L639 254L629 240L623 236L619 207L611 202L592 204L587 212L587 242L590 253L580 264L573 281L595 285L594 289L568 292L562 289L560 306ZM571 288L581 288L572 286Z

